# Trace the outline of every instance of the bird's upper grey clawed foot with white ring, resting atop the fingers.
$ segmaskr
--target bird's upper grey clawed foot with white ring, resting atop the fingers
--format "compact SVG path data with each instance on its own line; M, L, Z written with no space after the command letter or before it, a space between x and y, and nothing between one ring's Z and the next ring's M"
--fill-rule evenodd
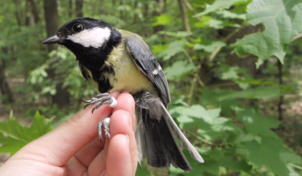
M92 109L92 113L94 112L94 110L100 108L102 105L109 105L111 108L114 108L117 105L116 99L111 97L109 93L98 94L97 96L93 97L91 100L82 99L82 101L87 103L87 105L84 107L84 109L88 105L93 105L93 104L99 103Z

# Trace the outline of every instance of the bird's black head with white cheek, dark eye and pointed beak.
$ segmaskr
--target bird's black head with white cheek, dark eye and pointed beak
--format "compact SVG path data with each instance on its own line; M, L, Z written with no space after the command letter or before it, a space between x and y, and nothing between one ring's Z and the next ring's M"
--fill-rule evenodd
M92 18L77 18L65 23L56 33L42 44L61 44L75 55L83 51L112 47L120 41L120 33L108 23Z

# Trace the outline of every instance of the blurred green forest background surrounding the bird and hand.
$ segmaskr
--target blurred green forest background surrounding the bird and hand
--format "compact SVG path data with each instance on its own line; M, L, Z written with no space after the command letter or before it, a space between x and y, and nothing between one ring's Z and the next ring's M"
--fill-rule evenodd
M0 153L14 154L97 93L75 56L41 45L92 17L141 35L164 68L169 111L205 163L137 175L302 175L302 2L0 1ZM0 162L8 158L0 155Z

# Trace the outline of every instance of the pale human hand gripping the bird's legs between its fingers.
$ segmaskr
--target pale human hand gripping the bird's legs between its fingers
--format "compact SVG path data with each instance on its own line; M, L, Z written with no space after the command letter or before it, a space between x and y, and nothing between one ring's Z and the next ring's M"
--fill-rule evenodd
M128 93L111 96L115 108L104 105L92 114L94 106L88 106L20 149L0 167L0 175L135 175L134 100ZM110 115L111 138L104 144L97 124Z

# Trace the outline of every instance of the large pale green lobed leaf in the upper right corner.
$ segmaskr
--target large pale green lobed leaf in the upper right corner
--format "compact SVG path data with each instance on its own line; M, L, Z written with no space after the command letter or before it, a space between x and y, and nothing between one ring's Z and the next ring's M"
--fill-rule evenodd
M255 0L248 5L248 20L252 25L263 24L263 32L250 34L232 46L241 56L258 56L259 67L266 59L276 56L282 63L292 38L302 32L302 2L293 0Z

